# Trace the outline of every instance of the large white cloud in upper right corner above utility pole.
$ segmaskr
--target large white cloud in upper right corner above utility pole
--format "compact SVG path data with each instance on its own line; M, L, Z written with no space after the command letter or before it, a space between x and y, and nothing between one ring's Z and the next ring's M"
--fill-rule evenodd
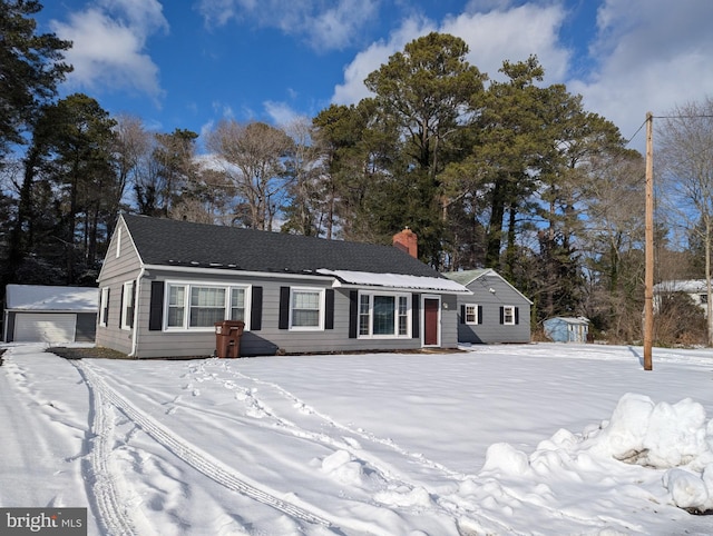
M647 111L664 115L711 95L711 20L713 2L707 1L607 0L590 46L596 71L567 87L584 96L588 110L631 137ZM632 143L639 151L643 146L643 136Z

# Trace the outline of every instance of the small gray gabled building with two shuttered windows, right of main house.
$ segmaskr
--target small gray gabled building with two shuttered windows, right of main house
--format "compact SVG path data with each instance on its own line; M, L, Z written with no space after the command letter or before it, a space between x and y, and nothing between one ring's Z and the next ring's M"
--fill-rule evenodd
M458 341L529 343L533 302L492 269L449 271L470 295L458 296Z

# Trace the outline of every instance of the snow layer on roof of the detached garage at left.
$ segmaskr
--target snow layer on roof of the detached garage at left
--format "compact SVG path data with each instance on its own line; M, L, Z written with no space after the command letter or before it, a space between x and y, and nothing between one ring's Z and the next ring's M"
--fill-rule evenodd
M6 308L96 312L99 308L99 291L91 287L8 285Z

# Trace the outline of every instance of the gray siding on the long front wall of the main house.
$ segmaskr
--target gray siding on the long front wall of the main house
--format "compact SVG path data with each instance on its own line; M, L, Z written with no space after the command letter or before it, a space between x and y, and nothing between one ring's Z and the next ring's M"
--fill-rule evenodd
M290 286L332 288L331 278L260 278L241 277L241 274L185 274L152 270L156 281L214 282L221 285L251 285L262 287L262 326L246 329L241 338L242 356L360 350L403 350L421 348L420 337L394 339L349 338L350 295L348 289L334 290L333 329L299 331L279 328L280 288ZM138 322L137 357L205 357L214 354L216 337L206 331L149 330L152 285L141 280L137 292ZM114 290L113 290L114 292ZM165 296L164 296L165 300ZM445 305L446 304L446 305ZM420 304L419 304L420 305ZM117 301L118 307L118 301ZM419 307L420 309L420 307ZM118 309L117 312L118 315ZM441 297L441 346L457 346L456 297ZM118 325L118 321L117 321ZM250 328L250 326L247 326ZM422 335L422 328L420 329Z

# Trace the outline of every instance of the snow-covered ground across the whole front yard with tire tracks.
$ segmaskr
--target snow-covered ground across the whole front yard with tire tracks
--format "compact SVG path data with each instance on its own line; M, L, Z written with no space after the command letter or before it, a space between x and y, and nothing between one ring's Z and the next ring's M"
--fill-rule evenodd
M713 534L713 350L6 348L0 506L90 535Z

